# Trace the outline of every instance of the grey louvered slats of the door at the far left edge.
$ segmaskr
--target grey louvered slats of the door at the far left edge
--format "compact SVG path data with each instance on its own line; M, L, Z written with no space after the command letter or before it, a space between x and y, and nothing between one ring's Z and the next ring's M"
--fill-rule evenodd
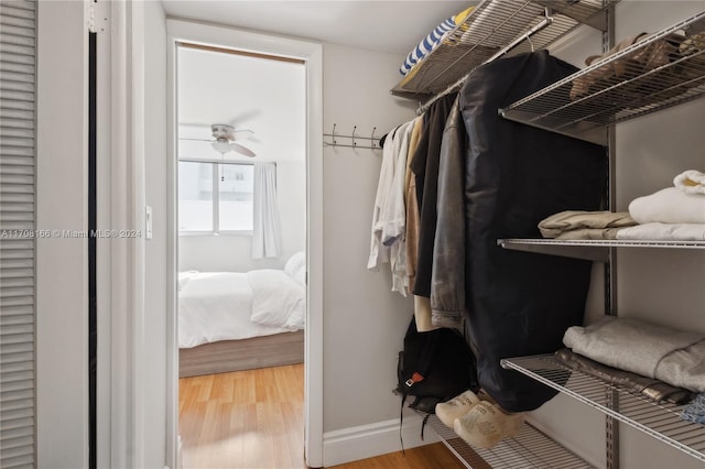
M0 467L35 466L34 1L0 1Z

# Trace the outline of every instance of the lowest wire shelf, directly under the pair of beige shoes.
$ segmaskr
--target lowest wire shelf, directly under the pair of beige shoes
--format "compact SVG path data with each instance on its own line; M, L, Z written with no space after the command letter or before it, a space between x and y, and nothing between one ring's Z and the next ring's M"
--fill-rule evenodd
M519 435L502 439L491 449L473 448L435 415L429 425L444 445L471 469L589 469L594 468L530 424Z

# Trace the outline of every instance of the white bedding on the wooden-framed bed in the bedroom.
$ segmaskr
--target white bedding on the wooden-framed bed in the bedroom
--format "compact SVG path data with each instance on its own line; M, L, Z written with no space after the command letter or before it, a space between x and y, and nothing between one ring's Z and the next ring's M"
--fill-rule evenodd
M183 272L178 286L180 348L304 327L305 287L284 271Z

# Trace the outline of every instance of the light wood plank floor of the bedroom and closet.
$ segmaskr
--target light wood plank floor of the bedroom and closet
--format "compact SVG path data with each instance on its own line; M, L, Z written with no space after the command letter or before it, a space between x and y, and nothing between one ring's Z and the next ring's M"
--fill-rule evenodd
M178 380L183 469L305 469L304 372L292 364ZM330 469L460 469L443 444Z

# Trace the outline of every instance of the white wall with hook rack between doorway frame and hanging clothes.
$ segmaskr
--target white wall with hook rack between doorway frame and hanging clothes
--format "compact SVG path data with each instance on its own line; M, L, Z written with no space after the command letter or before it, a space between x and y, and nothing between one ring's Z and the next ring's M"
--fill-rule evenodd
M403 57L324 44L324 132L378 135L414 117L389 90ZM399 417L397 353L412 303L367 270L381 153L324 149L324 430ZM388 448L389 451L399 447Z

